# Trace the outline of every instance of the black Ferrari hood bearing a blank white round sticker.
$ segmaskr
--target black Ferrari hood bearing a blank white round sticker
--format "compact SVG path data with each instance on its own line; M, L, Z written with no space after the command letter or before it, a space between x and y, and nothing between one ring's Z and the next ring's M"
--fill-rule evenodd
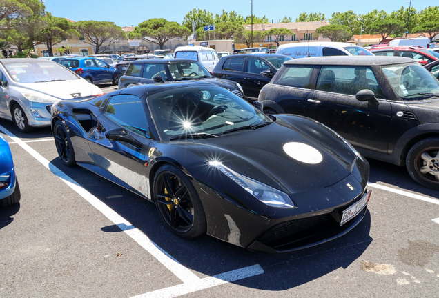
M350 174L355 160L334 135L280 123L203 141L206 159L289 193L331 186Z

